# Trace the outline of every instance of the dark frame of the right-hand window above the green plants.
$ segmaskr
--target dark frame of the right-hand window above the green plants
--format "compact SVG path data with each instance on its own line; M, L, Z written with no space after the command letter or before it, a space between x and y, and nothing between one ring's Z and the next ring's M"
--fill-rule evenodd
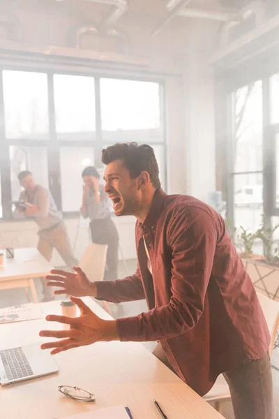
M277 50L279 52L279 50ZM264 63L264 64L263 64ZM279 73L279 60L268 61L255 57L239 66L234 72L228 71L222 76L216 73L216 146L223 151L225 165L222 172L217 173L223 177L220 182L224 198L227 202L226 219L228 225L235 226L234 205L234 178L237 175L262 174L263 176L263 222L271 226L272 216L279 216L276 208L276 134L279 133L279 124L271 124L271 77ZM220 80L217 79L220 77ZM235 130L234 130L234 92L237 89L262 80L262 170L251 172L234 172ZM223 116L223 120L220 118ZM224 135L225 133L225 135ZM222 139L223 135L223 139ZM216 148L217 148L216 147ZM220 155L218 155L220 159ZM232 230L230 233L234 233Z

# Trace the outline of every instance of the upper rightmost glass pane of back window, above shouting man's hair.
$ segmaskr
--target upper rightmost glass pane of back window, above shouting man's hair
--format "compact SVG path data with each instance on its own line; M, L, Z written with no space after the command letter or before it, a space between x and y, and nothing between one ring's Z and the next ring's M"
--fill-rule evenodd
M100 98L104 131L160 128L160 84L101 79Z

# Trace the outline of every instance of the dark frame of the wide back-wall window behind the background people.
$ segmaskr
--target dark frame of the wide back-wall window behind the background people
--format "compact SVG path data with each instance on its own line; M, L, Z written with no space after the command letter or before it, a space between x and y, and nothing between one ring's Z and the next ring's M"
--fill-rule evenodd
M5 115L4 115L4 101L3 101L3 71L26 71L33 73L47 74L47 98L48 98L48 118L49 118L49 135L47 140L30 140L29 138L6 138L5 133ZM95 124L96 131L92 131L94 140L58 140L56 135L55 122L55 108L54 108L54 74L60 75L77 75L94 79L95 87ZM161 146L163 150L163 179L165 181L165 189L167 190L167 139L165 128L165 79L161 77L137 77L132 73L125 72L125 74L116 74L112 70L94 71L84 70L71 71L68 68L45 68L41 66L28 66L28 64L11 65L0 64L0 177L1 177L1 203L2 203L2 218L0 221L13 220L12 205L11 205L11 182L10 182L10 156L9 147L13 145L22 145L24 147L46 147L47 148L47 165L50 191L54 197L55 203L59 210L61 210L61 167L60 167L60 147L92 147L95 156L95 166L102 170L103 163L101 161L101 151L103 145L110 145L117 142L117 132L115 131L114 140L104 140L102 131L101 106L100 106L100 79L108 78L115 80L132 80L142 82L155 82L160 87L160 138L156 141L151 141L149 138L149 130L145 133L141 132L142 138L139 143L147 142L152 146ZM126 131L123 131L124 133ZM113 134L112 134L113 137ZM133 140L129 138L129 140ZM63 212L67 217L79 216L79 212Z

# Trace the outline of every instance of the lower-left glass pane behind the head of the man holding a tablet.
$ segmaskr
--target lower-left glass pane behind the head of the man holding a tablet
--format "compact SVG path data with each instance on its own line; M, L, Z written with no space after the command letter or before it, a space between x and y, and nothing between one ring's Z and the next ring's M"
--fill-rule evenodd
M10 180L12 199L17 200L22 191L17 175L22 170L29 170L36 184L49 187L46 147L10 147Z

